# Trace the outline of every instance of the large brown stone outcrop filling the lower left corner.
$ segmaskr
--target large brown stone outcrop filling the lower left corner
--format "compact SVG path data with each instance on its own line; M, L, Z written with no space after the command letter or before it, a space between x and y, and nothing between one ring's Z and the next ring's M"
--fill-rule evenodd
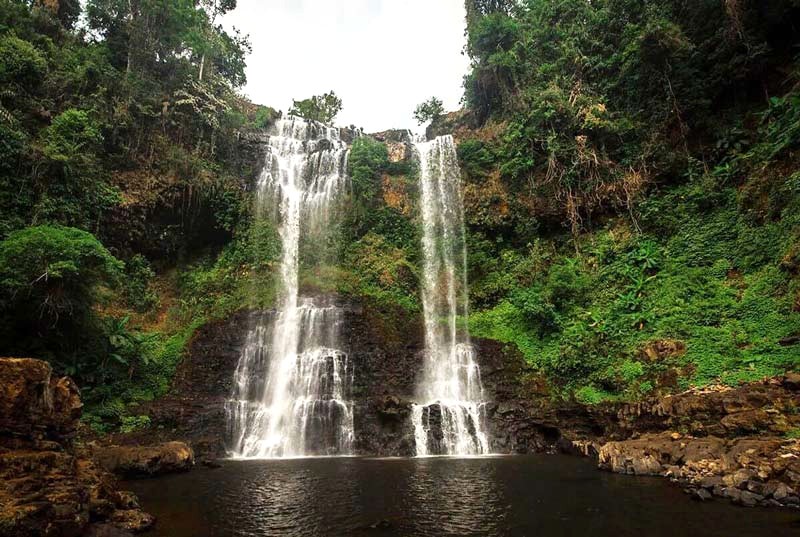
M96 524L130 535L153 524L75 446L80 410L74 383L46 362L0 358L0 536L78 536Z

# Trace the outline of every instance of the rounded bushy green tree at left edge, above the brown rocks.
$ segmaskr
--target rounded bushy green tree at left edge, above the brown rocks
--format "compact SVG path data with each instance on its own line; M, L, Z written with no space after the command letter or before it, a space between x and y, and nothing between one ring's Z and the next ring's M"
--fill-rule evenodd
M0 242L0 346L11 356L48 360L79 382L105 382L109 358L131 360L141 350L123 352L123 334L111 329L116 321L97 308L121 282L123 266L79 229L12 232Z

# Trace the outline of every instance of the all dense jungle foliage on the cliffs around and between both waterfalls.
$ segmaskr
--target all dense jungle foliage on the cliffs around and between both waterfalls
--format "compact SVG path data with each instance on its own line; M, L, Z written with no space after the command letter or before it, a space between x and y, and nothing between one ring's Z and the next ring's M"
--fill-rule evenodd
M464 110L417 118L458 141L473 335L586 403L796 368L800 1L466 6ZM195 329L274 298L251 185L277 113L237 93L234 7L0 0L0 354L73 375L100 430L146 426L129 404ZM334 255L301 274L387 327L421 308L401 139L354 139Z

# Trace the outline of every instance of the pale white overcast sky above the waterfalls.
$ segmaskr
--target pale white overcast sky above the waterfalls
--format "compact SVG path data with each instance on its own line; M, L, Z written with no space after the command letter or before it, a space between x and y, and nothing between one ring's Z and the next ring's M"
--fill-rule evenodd
M459 108L469 61L463 0L239 0L223 24L250 35L245 94L287 111L333 90L340 125L417 128L437 96Z

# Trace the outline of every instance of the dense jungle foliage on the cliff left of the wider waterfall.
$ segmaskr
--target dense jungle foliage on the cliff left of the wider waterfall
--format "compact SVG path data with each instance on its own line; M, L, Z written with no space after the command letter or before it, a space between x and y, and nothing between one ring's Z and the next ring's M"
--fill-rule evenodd
M97 424L135 423L279 248L248 225L241 138L275 113L237 95L234 7L0 0L0 348L73 375Z

